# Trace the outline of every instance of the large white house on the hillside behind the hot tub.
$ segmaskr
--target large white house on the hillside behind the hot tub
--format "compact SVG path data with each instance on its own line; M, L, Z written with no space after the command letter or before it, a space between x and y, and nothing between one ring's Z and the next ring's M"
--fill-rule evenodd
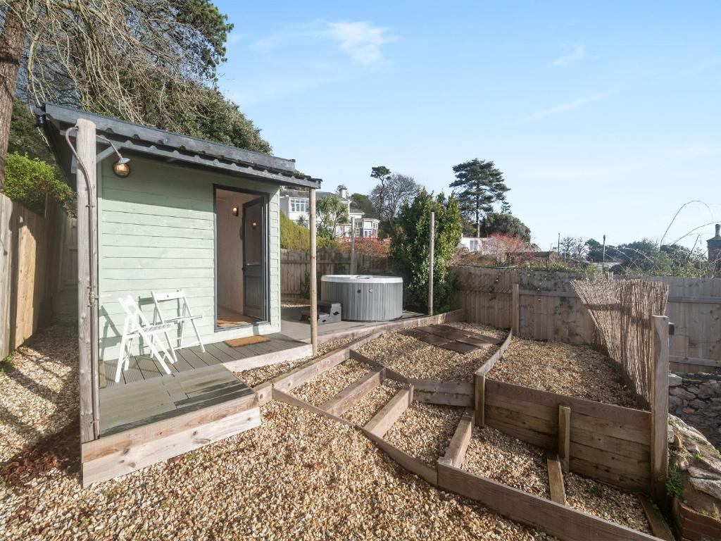
M377 218L366 218L366 213L360 208L351 206L348 197L348 188L344 185L338 186L337 192L317 192L316 197L322 199L324 197L332 197L337 195L340 201L348 208L348 224L339 224L335 228L335 236L337 238L350 237L350 224L355 225L356 237L378 237L378 227L381 221ZM280 210L288 216L296 224L308 226L309 198L307 190L298 190L296 188L283 188L280 190Z

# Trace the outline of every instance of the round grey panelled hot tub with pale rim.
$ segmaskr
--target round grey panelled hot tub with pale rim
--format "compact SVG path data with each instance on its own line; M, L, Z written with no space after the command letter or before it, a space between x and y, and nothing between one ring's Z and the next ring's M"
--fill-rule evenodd
M344 320L397 320L403 314L403 278L326 274L320 279L320 298L340 302Z

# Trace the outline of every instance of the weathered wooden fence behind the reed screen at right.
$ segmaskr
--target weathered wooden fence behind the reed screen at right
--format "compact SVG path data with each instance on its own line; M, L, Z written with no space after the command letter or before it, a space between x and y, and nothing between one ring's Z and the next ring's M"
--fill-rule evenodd
M465 266L454 267L452 272L459 280L456 304L466 310L469 322L510 328L511 291L518 283L519 335L601 344L593 319L570 286L578 275ZM721 278L644 278L668 283L665 315L676 325L670 348L673 366L721 370ZM694 359L699 362L694 364Z

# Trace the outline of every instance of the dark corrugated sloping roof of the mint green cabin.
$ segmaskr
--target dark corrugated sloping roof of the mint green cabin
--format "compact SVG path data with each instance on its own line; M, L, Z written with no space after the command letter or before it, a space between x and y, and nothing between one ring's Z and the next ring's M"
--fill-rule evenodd
M146 154L165 162L175 162L220 170L229 175L252 177L279 185L296 188L320 188L321 180L303 175L296 170L296 162L269 154L262 154L236 146L229 146L197 137L173 133L159 128L143 126L118 118L96 115L63 105L45 104L35 110L53 147L58 164L68 180L74 185L75 159L63 140L68 128L75 126L80 118L92 120L97 133L112 141L121 154ZM105 141L98 141L98 151L110 148Z

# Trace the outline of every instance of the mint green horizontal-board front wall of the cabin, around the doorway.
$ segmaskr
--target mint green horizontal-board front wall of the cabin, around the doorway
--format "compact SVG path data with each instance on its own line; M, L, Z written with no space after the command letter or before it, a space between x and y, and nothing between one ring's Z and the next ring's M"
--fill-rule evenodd
M151 291L185 289L202 315L203 343L280 332L280 220L277 185L134 157L127 178L98 175L98 286L100 359L118 356L125 315L118 297L131 294L153 320ZM269 196L270 322L215 330L213 184ZM187 338L192 330L185 330Z

